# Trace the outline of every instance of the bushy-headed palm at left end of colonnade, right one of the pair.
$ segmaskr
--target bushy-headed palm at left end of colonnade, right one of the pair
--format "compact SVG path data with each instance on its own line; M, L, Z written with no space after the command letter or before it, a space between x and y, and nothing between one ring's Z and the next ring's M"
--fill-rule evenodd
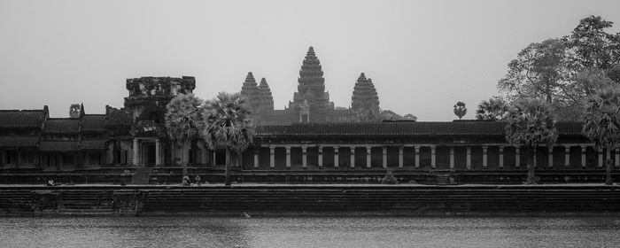
M211 149L226 149L225 185L230 185L230 150L238 156L252 143L254 127L250 108L239 93L220 92L204 106L205 125L201 135Z

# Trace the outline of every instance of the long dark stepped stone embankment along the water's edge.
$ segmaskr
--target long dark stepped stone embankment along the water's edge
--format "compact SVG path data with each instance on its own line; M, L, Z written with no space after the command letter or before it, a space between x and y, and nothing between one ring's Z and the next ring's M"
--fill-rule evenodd
M620 215L620 186L0 186L0 216L63 215L601 216Z

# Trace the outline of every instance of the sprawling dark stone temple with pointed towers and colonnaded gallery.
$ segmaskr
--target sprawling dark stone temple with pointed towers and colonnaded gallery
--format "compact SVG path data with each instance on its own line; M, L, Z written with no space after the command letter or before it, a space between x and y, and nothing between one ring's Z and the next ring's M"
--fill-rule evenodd
M455 174L461 182L523 178L525 149L506 142L505 122L352 121L354 112L379 109L373 82L360 74L351 107L338 108L329 102L322 75L311 47L293 100L287 108L275 110L267 80L262 78L257 86L254 75L247 74L241 94L258 126L250 148L231 158L238 180L284 182L297 174L295 178L302 181L365 182L389 168L412 180L438 172ZM196 136L183 154L167 136L166 105L179 93L192 93L194 77L134 78L126 81L126 87L124 106L105 106L105 114L89 114L84 105L71 105L66 118L50 118L47 106L0 110L0 177L85 169L172 173L181 164L189 164L190 171L221 172L226 163L223 150L208 149ZM582 134L582 123L558 122L557 128L557 143L541 145L534 154L540 174L571 182L602 178L607 152L620 167L620 151L596 151Z

